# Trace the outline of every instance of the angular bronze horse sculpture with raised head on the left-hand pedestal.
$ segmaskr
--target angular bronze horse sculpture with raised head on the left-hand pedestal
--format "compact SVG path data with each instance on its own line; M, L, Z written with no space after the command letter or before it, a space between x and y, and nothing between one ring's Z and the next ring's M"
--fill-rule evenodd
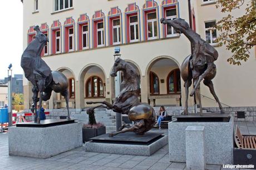
M42 101L51 98L52 91L61 93L66 99L68 119L70 112L68 107L68 81L67 78L58 71L51 71L46 62L41 58L41 52L48 38L40 31L38 26L34 27L36 38L28 44L21 57L21 67L25 77L32 83L33 104L31 111L37 113L37 102L39 109L42 107ZM39 98L38 98L39 93ZM40 114L35 114L35 122L40 123Z

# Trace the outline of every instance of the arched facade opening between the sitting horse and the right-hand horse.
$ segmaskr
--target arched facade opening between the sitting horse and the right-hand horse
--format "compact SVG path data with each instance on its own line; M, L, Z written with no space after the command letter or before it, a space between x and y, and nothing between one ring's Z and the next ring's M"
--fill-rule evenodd
M147 92L151 106L180 106L179 66L169 57L157 57L147 67Z

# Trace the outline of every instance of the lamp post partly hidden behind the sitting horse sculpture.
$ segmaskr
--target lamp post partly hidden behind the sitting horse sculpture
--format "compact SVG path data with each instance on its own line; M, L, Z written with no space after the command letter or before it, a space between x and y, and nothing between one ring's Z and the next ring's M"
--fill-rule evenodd
M116 61L117 57L121 57L120 47L115 48L114 59ZM119 96L121 91L121 72L117 72L117 76L115 77L115 97ZM118 130L122 126L122 115L120 113L116 113L116 130Z

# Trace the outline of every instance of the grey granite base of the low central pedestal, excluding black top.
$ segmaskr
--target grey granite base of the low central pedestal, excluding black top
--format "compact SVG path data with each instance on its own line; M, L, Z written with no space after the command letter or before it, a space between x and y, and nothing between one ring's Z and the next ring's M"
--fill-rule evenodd
M151 156L160 148L168 144L168 136L164 136L151 144L124 144L107 142L86 142L86 151L100 153L131 154L137 156Z

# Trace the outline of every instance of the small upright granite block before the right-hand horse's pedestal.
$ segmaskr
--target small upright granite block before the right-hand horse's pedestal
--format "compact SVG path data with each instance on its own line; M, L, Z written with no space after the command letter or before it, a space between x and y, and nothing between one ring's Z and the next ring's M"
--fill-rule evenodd
M204 170L205 135L203 126L188 126L186 128L186 168Z

